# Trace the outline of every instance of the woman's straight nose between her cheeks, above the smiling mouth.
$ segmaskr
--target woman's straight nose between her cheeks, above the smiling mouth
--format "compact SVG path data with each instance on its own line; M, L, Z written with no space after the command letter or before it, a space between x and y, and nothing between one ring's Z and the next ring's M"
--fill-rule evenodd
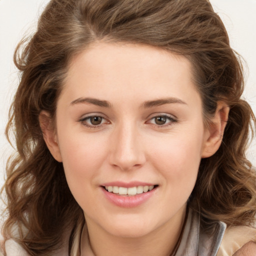
M109 163L121 170L138 168L145 162L142 138L135 125L120 124L110 139Z

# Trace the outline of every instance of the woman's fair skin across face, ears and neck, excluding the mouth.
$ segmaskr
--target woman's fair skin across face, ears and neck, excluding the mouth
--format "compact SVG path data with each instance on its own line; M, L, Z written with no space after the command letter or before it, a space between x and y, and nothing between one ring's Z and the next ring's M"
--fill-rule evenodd
M57 101L55 126L45 111L40 123L84 211L89 242L84 235L82 255L169 255L200 159L218 149L227 115L228 107L218 102L205 128L190 62L182 56L104 42L76 55ZM92 125L91 116L101 116L101 122ZM159 125L156 117L166 120ZM125 208L102 192L101 185L113 181L157 187L142 204Z

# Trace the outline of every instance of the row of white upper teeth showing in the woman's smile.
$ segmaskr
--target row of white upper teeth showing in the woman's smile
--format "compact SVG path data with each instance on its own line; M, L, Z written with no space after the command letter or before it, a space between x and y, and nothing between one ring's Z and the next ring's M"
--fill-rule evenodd
M113 192L120 195L135 195L146 193L147 191L151 191L154 188L151 186L133 186L133 187L122 187L122 186L105 186L105 189L108 192Z

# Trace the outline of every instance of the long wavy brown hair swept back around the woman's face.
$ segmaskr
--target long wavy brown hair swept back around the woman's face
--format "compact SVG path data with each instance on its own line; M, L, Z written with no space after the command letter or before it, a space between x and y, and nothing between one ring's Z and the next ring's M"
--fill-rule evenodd
M13 238L29 255L49 255L61 246L63 233L76 230L83 221L63 166L44 143L38 115L46 110L54 118L70 59L97 40L149 44L187 57L205 122L218 100L230 106L221 146L201 160L189 205L205 219L250 224L256 213L256 179L245 149L255 118L240 98L239 56L230 48L224 25L209 1L51 0L37 31L19 43L14 55L21 79L6 134L14 133L17 153L8 161L3 187L8 213L4 239Z

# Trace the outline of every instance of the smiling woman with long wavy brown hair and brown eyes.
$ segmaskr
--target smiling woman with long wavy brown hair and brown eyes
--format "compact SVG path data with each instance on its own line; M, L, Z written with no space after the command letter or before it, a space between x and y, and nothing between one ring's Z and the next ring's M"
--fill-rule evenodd
M15 59L4 254L255 254L254 116L207 0L51 0Z

